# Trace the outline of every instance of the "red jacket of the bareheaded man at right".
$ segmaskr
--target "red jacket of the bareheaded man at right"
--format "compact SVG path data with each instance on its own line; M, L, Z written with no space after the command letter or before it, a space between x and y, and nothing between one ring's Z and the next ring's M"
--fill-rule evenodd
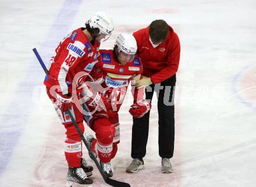
M169 26L167 38L156 48L150 43L149 26L133 33L138 45L137 55L143 63L143 75L150 77L154 84L172 77L180 61L180 41Z

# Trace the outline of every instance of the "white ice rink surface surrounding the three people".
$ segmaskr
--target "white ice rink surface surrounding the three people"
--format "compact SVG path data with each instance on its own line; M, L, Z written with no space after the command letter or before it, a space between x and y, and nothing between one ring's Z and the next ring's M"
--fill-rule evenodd
M12 1L0 0L0 186L65 186L65 129L42 85L59 41L98 10L116 35L164 19L179 35L175 95L174 172L161 174L157 98L152 101L145 169L130 164L130 92L120 110L121 142L114 177L136 187L253 187L256 183L256 2L244 1ZM86 132L90 132L86 127ZM107 186L93 161L94 184ZM83 185L76 185L77 187Z

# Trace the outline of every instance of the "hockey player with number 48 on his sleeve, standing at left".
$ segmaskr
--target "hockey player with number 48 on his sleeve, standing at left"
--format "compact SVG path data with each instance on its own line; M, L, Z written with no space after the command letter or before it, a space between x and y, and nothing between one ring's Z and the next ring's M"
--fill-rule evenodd
M67 108L73 113L81 132L84 132L80 92L86 87L85 79L97 63L101 39L109 38L112 31L111 17L104 12L95 13L87 21L86 28L72 31L59 43L50 62L49 76L44 81L47 94L66 128L65 157L69 166L67 181L79 184L93 183L93 180L88 178L93 168L87 166L81 157L81 138L67 114ZM95 102L95 95L84 102Z

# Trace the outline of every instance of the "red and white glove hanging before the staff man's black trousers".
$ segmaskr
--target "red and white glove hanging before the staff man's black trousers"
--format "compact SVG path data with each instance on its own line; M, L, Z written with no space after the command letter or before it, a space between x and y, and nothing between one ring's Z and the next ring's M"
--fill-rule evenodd
M131 116L135 118L143 117L145 113L150 111L151 109L151 103L147 100L138 100L138 102L133 103L133 105L130 106L130 114Z

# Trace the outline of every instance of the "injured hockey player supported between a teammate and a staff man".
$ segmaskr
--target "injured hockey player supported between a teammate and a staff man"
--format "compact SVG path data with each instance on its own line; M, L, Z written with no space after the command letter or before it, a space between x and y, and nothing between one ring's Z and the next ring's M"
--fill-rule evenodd
M92 135L88 136L88 142L91 143L91 149L97 153L102 169L108 177L112 177L113 168L111 159L115 157L120 142L119 134L119 117L118 111L125 99L127 87L131 81L134 84L134 79L139 79L143 71L140 58L135 56L137 51L136 40L131 34L120 34L116 39L113 50L99 50L99 62L94 67L91 75L95 80L100 80L101 75L101 92L111 106L107 106L108 118L105 118L104 123L97 123L97 115L100 112L95 112L93 116L84 116L85 120L90 124L90 127L95 131L97 139ZM144 98L144 88L132 88L135 103L131 106L129 112L134 117L142 117L147 113L151 105ZM88 109L85 109L88 110ZM90 109L88 110L90 112ZM96 118L96 119L95 119ZM102 118L100 118L102 120ZM108 120L111 122L109 124Z

